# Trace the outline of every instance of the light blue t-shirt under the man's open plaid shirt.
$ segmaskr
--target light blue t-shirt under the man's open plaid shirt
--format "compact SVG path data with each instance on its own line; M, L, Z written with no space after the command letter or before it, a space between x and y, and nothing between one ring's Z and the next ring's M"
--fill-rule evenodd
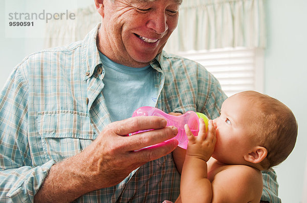
M150 65L132 68L115 63L99 52L105 70L102 90L111 121L132 116L142 106L156 106L158 89L155 89Z

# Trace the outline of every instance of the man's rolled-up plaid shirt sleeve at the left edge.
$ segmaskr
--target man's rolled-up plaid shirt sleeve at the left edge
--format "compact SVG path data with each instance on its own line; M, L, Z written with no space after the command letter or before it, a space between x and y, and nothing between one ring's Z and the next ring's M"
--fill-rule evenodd
M21 65L22 66L22 65ZM0 93L0 199L33 202L55 161L33 166L28 139L26 69L15 68Z

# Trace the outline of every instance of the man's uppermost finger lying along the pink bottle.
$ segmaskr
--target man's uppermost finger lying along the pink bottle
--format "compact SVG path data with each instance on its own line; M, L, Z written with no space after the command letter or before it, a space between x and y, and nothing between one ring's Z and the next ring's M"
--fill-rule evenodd
M158 116L136 116L110 124L117 135L128 135L138 131L164 128L167 121Z

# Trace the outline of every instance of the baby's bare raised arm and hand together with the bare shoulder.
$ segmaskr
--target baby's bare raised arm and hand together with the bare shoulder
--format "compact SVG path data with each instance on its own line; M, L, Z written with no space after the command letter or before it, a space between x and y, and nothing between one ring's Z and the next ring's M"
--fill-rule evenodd
M205 123L200 120L200 132L194 137L187 126L189 139L183 164L180 198L176 202L259 202L262 193L262 175L245 165L224 165L208 179L207 162L211 157L216 134L212 120L206 136Z

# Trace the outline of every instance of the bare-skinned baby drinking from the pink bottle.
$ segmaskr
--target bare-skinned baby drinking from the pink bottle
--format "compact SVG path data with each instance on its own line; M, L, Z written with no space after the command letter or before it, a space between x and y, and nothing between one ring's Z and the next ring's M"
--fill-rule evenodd
M176 202L257 202L262 193L261 170L278 165L291 153L297 137L292 111L277 99L254 91L230 96L220 117L200 119L194 137L185 125L189 142L183 153L173 153L182 169Z

